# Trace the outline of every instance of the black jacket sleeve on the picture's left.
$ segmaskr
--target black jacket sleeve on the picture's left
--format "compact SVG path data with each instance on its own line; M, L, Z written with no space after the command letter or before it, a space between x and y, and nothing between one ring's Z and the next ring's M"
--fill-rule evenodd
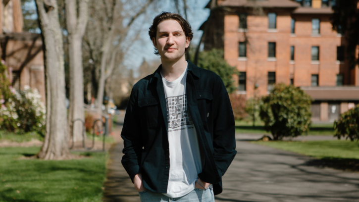
M126 172L130 176L132 182L133 178L140 171L140 161L142 153L142 135L141 126L137 124L139 119L139 106L137 102L136 92L132 89L130 100L126 108L125 119L121 132L123 139L123 153L121 163Z

